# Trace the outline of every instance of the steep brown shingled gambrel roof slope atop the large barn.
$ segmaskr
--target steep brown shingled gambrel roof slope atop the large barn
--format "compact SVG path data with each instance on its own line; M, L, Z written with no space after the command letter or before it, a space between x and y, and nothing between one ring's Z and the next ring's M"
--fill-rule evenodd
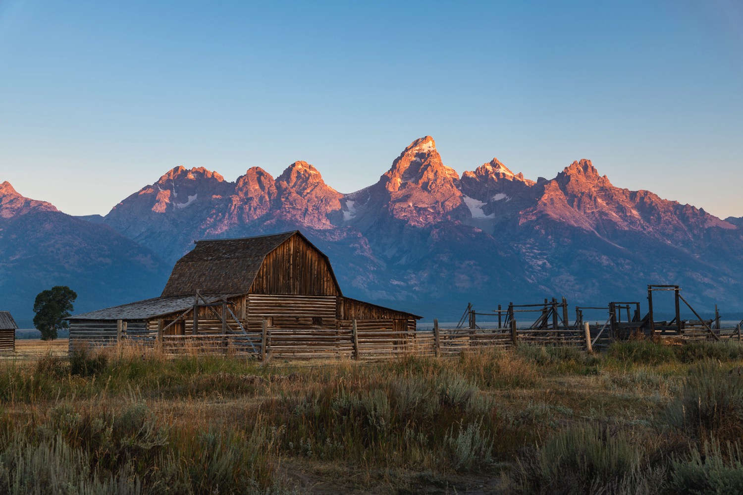
M266 255L294 235L302 236L299 230L292 230L269 236L197 241L196 247L175 263L162 297L196 291L247 294Z

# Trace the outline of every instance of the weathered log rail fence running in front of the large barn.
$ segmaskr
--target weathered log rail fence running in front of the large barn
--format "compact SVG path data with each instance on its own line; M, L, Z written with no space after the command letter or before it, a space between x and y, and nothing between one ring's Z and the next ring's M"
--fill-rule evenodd
M380 359L401 355L455 355L486 347L510 348L527 343L539 346L577 346L590 349L590 337L575 329L441 329L392 331L357 326L351 329L276 329L264 320L262 331L232 334L163 335L129 333L126 325L119 341L166 355L235 355L270 358L317 359L346 357Z

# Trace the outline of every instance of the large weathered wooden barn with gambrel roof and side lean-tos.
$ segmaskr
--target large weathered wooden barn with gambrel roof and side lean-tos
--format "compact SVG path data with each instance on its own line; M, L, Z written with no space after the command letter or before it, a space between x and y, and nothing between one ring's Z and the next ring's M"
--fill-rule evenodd
M421 317L344 297L325 256L298 230L196 242L160 297L69 318L70 349L122 336L252 334L271 329L415 331Z

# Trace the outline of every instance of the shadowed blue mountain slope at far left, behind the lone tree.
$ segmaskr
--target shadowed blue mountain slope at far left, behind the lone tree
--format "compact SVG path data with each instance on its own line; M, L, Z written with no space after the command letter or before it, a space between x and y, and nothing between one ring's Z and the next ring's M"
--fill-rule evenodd
M156 296L168 274L158 255L110 227L0 187L0 291L19 325L32 326L36 294L54 285L77 292L76 311L92 311Z

